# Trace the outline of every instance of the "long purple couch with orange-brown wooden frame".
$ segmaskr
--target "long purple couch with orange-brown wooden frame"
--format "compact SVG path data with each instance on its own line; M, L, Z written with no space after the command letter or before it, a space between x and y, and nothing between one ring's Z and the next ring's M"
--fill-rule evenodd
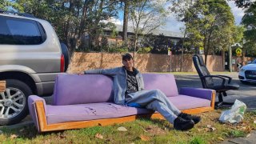
M159 89L185 113L214 110L214 90L181 88L173 74L143 74L145 89ZM30 115L39 132L104 126L132 121L138 116L162 118L157 112L116 105L113 102L112 78L100 74L59 74L52 105L43 98L28 98Z

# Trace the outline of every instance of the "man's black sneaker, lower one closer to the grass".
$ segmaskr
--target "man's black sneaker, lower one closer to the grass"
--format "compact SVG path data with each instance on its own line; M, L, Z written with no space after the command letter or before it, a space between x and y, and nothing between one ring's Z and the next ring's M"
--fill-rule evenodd
M174 120L174 129L175 130L190 130L194 127L194 122L192 120L186 120L180 117L177 117Z

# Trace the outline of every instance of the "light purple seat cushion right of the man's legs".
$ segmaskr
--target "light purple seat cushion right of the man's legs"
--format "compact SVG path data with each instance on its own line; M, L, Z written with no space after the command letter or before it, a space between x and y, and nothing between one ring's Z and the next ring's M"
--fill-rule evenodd
M169 97L170 102L177 106L178 110L186 110L197 107L210 106L210 100L204 98L190 97L186 95L178 95L176 97Z

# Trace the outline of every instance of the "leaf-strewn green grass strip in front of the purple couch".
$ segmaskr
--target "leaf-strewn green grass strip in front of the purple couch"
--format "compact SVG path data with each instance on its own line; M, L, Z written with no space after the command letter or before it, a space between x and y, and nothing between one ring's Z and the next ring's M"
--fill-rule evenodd
M34 126L19 129L2 128L0 143L217 143L222 139L245 137L256 130L256 111L246 112L243 122L225 124L218 122L221 110L199 114L202 122L188 131L174 130L165 120L141 118L134 122L112 126L94 126L80 130L63 130L38 134ZM208 125L208 126L207 126ZM118 131L124 126L127 131ZM210 127L216 130L210 130ZM96 138L96 134L103 138ZM15 138L16 136L16 138Z

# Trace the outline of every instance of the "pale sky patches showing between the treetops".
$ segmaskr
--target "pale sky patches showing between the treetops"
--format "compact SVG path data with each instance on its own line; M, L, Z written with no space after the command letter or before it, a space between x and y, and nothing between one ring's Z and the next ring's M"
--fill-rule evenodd
M232 13L234 14L235 24L239 25L241 23L242 16L244 14L244 10L235 6L233 1L229 1L228 4L231 7ZM120 13L119 18L118 19L113 18L111 20L111 22L114 22L118 25L122 25L122 22L123 22L122 18L123 18L122 13ZM130 24L130 26L131 26L131 24ZM178 22L176 20L176 18L174 18L174 15L170 14L170 17L168 17L168 19L167 19L166 26L161 26L160 29L167 30L167 31L181 32L180 29L183 26L184 26L184 24L182 22Z

